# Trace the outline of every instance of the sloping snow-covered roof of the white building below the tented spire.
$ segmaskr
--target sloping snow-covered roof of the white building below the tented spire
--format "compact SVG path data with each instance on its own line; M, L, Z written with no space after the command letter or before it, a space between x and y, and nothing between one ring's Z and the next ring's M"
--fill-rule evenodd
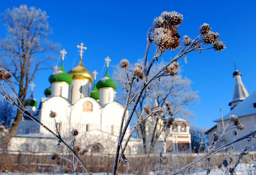
M231 114L235 114L238 117L255 114L256 108L253 106L253 103L256 103L256 91L252 92L249 97L247 97L244 101L240 102L233 110L227 113L223 117L223 119L229 120ZM214 121L221 121L221 118Z

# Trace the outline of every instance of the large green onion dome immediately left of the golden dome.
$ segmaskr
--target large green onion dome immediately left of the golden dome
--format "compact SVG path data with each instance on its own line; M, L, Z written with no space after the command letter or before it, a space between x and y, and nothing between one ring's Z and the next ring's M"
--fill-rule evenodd
M60 69L56 72L54 72L50 77L49 77L49 82L66 82L68 84L72 83L72 78L69 76L69 74L66 73L64 66L63 66L63 61L61 62Z

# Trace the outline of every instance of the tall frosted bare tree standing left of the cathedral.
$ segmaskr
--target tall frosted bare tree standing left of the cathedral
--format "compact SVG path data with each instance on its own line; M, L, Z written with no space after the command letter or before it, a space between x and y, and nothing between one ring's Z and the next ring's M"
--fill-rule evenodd
M48 24L45 11L35 7L13 7L2 14L7 36L0 41L1 67L12 73L14 84L18 86L18 98L24 104L28 92L28 84L35 78L35 74L42 68L41 65L49 60L51 51L58 45L48 40L52 29ZM20 103L19 103L20 105ZM8 129L9 141L16 131L21 112L18 110L16 119Z

